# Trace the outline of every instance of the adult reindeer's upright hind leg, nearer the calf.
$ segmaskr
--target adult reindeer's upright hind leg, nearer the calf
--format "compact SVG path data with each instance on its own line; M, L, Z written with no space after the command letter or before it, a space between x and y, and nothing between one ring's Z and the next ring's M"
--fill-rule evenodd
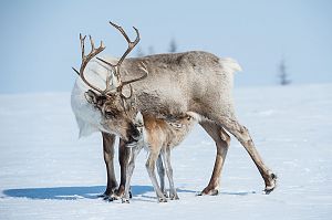
M200 122L201 127L209 134L209 136L216 142L217 155L215 160L214 171L208 186L199 193L201 195L218 195L219 179L221 169L225 163L225 158L229 148L230 137L222 129L221 126L215 124L211 121Z

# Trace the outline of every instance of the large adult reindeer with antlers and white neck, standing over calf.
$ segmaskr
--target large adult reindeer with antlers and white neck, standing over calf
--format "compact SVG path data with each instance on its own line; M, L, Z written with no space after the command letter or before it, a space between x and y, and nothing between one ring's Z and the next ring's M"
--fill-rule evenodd
M248 129L235 115L231 92L234 73L241 70L239 64L231 59L220 59L199 51L125 59L139 41L138 30L134 28L136 40L132 42L121 27L110 23L123 34L128 49L120 60L94 59L104 50L104 45L101 43L95 49L91 40L92 51L85 55L84 38L81 36L82 64L80 71L76 71L80 77L72 92L72 108L80 134L101 132L103 135L107 169L104 195L112 198L124 192L128 160L125 145L137 138L133 121L138 111L164 119L172 119L186 112L196 113L203 118L199 124L215 140L217 155L210 181L201 195L218 193L219 177L230 143L226 130L250 155L264 180L264 191L272 191L276 175L263 164ZM112 64L114 62L117 63ZM124 95L125 87L131 91L128 96ZM121 185L117 191L113 164L116 135L121 137Z

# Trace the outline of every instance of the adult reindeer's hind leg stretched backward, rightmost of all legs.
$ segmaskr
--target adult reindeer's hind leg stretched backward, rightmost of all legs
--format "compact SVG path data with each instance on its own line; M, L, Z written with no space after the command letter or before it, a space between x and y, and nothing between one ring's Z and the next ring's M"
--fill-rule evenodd
M277 176L264 165L262 158L260 157L253 145L249 130L232 117L222 118L220 122L222 122L225 128L230 132L246 148L264 180L266 193L270 193L276 188Z

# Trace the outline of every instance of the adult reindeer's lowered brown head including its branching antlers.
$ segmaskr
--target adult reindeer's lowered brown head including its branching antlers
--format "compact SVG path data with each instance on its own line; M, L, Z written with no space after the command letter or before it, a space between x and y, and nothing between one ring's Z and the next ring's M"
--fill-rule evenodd
M117 134L124 140L131 143L137 140L139 137L139 132L134 125L134 119L138 111L136 107L136 98L135 95L133 95L133 88L131 83L145 78L148 72L146 66L142 63L139 69L143 70L144 75L142 75L138 78L133 78L126 82L123 82L121 80L120 66L124 61L125 56L139 42L139 33L138 30L134 28L137 35L135 41L132 42L121 27L112 22L110 23L124 35L124 38L128 42L128 48L116 64L112 64L107 61L96 57L97 60L110 66L110 69L107 69L110 74L107 75L105 81L106 88L103 91L92 85L84 76L84 69L86 67L87 63L105 49L103 42L101 42L101 45L97 49L95 49L94 42L90 36L91 52L87 55L85 55L85 36L82 38L82 35L80 34L82 49L82 64L80 71L75 69L73 70L80 75L82 81L91 87L91 90L85 92L85 98L91 105L93 105L97 111L100 111L102 115L101 126L104 128L104 130L110 132L112 134ZM131 94L128 96L125 96L123 94L123 87L125 85L128 85L131 88Z

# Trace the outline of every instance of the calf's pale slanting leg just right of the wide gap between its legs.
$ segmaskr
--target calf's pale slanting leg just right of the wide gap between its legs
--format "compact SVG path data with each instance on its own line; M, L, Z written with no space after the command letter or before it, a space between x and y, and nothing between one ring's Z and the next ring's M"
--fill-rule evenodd
M156 191L158 201L159 202L167 202L167 199L164 196L164 193L163 193L163 191L162 191L162 189L158 185L157 177L156 177L156 174L155 174L156 160L158 158L158 155L159 155L159 153L151 150L149 155L148 155L148 158L146 160L145 167L147 169L148 176L149 176L151 181L152 181L152 184L154 186L154 189Z

